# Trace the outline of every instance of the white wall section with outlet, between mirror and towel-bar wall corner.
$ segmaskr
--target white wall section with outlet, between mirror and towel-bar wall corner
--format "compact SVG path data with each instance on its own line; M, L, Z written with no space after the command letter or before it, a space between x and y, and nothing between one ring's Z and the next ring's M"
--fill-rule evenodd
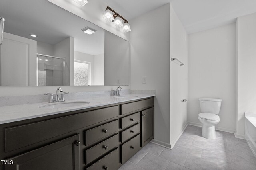
M131 89L156 90L154 141L170 147L170 5L129 21ZM147 84L142 84L147 77Z

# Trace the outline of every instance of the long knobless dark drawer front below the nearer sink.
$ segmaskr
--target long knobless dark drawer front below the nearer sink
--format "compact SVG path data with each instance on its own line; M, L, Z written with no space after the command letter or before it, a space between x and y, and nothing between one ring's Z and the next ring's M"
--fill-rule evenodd
M5 152L26 147L118 116L118 106L5 129Z

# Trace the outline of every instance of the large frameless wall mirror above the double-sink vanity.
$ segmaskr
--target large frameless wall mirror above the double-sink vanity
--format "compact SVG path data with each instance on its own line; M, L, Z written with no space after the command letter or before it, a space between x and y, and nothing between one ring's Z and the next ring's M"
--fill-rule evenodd
M125 39L47 0L1 0L0 17L1 86L129 85Z

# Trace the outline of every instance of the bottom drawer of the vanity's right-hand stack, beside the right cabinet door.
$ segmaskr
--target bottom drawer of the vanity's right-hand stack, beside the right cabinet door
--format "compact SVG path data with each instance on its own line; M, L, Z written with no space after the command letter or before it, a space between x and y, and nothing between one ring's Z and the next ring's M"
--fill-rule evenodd
M122 145L122 164L140 150L140 134Z

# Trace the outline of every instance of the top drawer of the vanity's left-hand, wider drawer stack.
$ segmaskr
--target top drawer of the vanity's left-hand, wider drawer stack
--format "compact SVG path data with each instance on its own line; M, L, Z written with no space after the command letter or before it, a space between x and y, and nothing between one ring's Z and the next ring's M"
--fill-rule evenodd
M89 145L118 131L118 120L85 131L85 145Z

